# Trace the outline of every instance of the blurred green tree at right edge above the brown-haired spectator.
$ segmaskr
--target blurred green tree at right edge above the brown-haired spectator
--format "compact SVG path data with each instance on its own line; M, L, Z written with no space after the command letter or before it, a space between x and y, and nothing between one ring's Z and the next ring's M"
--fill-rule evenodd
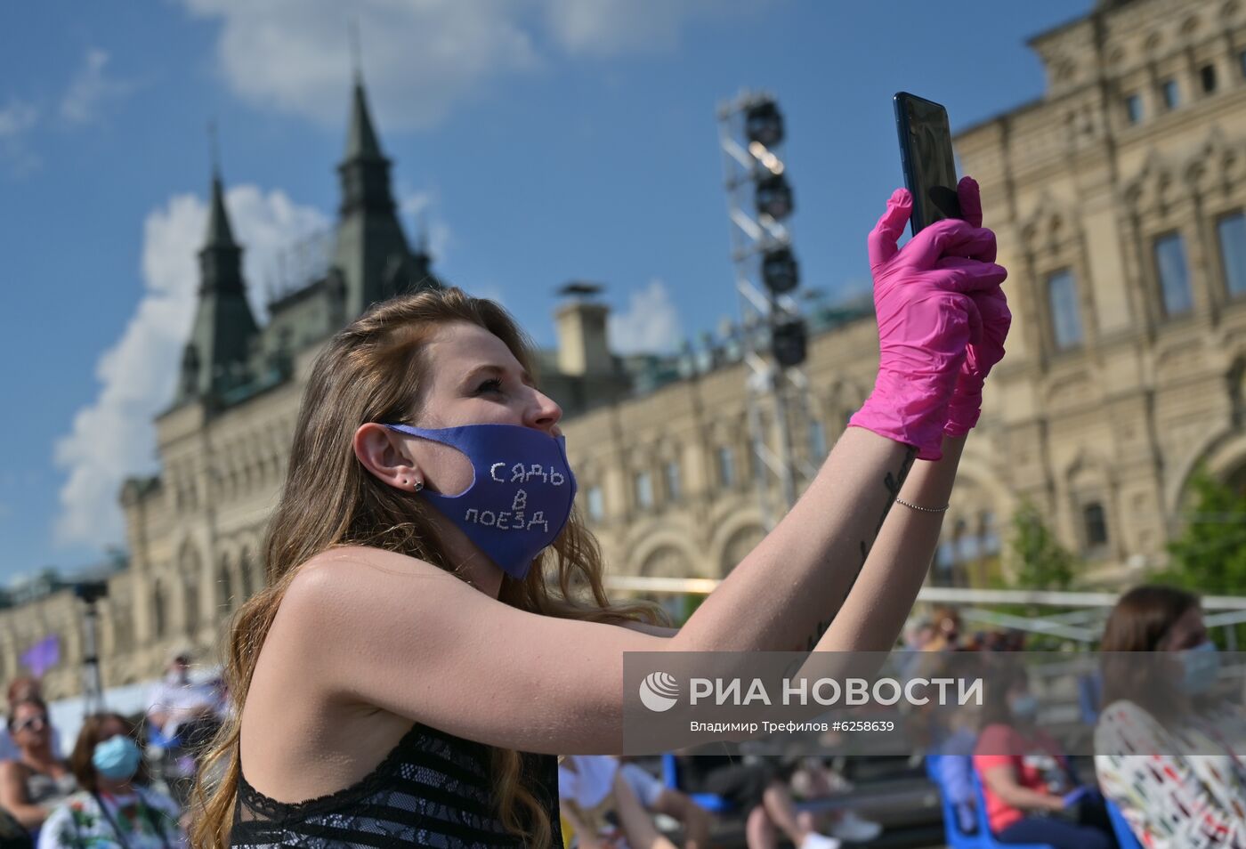
M1246 494L1199 468L1190 479L1181 534L1161 580L1202 595L1240 595L1246 587Z

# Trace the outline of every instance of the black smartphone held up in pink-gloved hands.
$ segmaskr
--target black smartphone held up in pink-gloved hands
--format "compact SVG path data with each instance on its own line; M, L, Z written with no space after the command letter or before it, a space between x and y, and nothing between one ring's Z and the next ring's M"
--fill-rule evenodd
M900 133L900 165L905 186L913 196L913 236L942 218L961 218L956 196L956 160L952 130L941 103L897 92L896 131Z

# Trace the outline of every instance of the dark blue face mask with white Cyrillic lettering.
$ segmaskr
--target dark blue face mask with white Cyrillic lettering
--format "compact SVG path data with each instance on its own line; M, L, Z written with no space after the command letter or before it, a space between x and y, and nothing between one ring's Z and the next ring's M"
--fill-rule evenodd
M562 436L503 424L425 429L385 425L462 451L475 480L459 495L425 490L490 560L517 581L562 532L576 500L576 476Z

